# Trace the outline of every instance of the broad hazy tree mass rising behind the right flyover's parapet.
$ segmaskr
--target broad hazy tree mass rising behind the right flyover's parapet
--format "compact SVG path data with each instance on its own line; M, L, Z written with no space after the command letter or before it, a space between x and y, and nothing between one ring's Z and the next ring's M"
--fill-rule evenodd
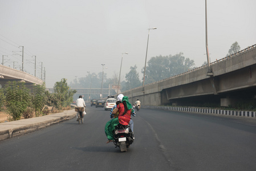
M177 74L189 71L194 66L194 60L185 58L183 53L174 56L156 56L148 61L145 72L145 83L157 82ZM144 73L144 68L141 70ZM146 82L146 79L148 82Z

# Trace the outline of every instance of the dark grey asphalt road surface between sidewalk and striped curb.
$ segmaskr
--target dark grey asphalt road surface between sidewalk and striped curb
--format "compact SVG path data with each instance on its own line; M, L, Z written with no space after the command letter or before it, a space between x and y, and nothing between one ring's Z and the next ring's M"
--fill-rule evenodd
M256 120L141 109L127 152L105 144L109 111L0 141L0 170L256 170Z

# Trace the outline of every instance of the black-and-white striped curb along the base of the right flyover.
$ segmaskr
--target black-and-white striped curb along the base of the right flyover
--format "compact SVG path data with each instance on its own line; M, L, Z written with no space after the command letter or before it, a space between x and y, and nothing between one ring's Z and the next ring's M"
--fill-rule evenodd
M205 113L205 114L256 118L256 112L252 112L252 111L230 111L230 110L221 110L221 109L170 107L170 106L160 106L160 105L141 105L141 107L145 109L164 109L168 111L196 112L196 113Z

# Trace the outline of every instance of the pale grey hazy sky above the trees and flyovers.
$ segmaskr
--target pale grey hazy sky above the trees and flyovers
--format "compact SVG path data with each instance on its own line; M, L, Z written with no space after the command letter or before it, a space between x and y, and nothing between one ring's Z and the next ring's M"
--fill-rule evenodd
M256 43L255 0L212 0L208 6L210 59L224 58L235 41L241 50ZM121 79L131 66L152 56L183 52L201 66L206 59L204 0L0 0L0 57L5 66L19 68L22 58L13 51L24 46L24 70L40 78L46 70L46 87L66 78L70 83L102 71ZM21 52L17 52L21 54Z

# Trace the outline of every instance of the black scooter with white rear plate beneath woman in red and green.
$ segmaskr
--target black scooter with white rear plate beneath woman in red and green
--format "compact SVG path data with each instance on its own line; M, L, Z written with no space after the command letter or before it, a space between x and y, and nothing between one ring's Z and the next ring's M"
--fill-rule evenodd
M121 152L127 152L127 148L133 143L134 136L129 125L118 124L113 131L116 147L121 149Z

